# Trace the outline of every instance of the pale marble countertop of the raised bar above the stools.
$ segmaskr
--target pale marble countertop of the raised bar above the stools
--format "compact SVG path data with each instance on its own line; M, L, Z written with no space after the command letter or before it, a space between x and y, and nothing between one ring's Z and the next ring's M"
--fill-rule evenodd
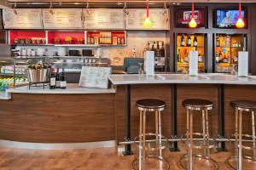
M188 74L155 74L152 77L139 75L111 75L114 85L121 84L158 84L158 83L195 83L195 84L244 84L256 85L256 76L237 77L236 75L203 73L196 77Z

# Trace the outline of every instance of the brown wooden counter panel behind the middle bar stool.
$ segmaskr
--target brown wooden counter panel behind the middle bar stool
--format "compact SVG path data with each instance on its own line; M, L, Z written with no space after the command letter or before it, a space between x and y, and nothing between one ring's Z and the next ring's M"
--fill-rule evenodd
M218 135L218 85L177 84L177 134L184 135L187 126L187 113L183 107L184 99L207 99L213 102L214 108L209 111L210 133ZM201 113L194 114L194 131L202 132Z

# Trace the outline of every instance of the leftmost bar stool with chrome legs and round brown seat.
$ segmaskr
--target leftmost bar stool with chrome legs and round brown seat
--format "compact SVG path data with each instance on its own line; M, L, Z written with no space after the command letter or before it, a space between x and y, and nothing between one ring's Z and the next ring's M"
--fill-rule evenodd
M138 169L144 170L146 159L156 158L160 161L160 166L165 167L166 169L170 168L169 163L163 158L162 150L165 148L165 145L162 144L162 139L166 139L161 133L161 112L166 108L166 103L159 99L140 99L137 100L137 109L140 111L140 129L139 129L139 156L132 162L132 168L137 169L136 163L138 161ZM147 113L154 112L155 116L155 132L146 133L146 115ZM147 136L154 136L155 138L155 148L150 148L146 146ZM137 137L135 138L135 140ZM155 150L156 156L146 156L146 150ZM165 165L164 165L165 164Z

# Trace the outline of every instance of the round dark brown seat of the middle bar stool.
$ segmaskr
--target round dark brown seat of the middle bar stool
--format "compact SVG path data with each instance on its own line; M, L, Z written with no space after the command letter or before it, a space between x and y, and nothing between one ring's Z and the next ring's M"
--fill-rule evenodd
M204 109L209 108L212 109L213 103L212 101L206 99L185 99L183 100L183 107L190 107L195 109Z

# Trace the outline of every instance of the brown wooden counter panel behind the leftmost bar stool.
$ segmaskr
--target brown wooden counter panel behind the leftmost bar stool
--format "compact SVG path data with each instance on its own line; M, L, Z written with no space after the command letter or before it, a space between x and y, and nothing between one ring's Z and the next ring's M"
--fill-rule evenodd
M143 84L131 85L131 138L139 133L139 111L136 107L138 99L161 99L166 102L166 109L163 111L162 133L171 137L171 85L170 84ZM147 132L154 133L154 113L147 114Z

